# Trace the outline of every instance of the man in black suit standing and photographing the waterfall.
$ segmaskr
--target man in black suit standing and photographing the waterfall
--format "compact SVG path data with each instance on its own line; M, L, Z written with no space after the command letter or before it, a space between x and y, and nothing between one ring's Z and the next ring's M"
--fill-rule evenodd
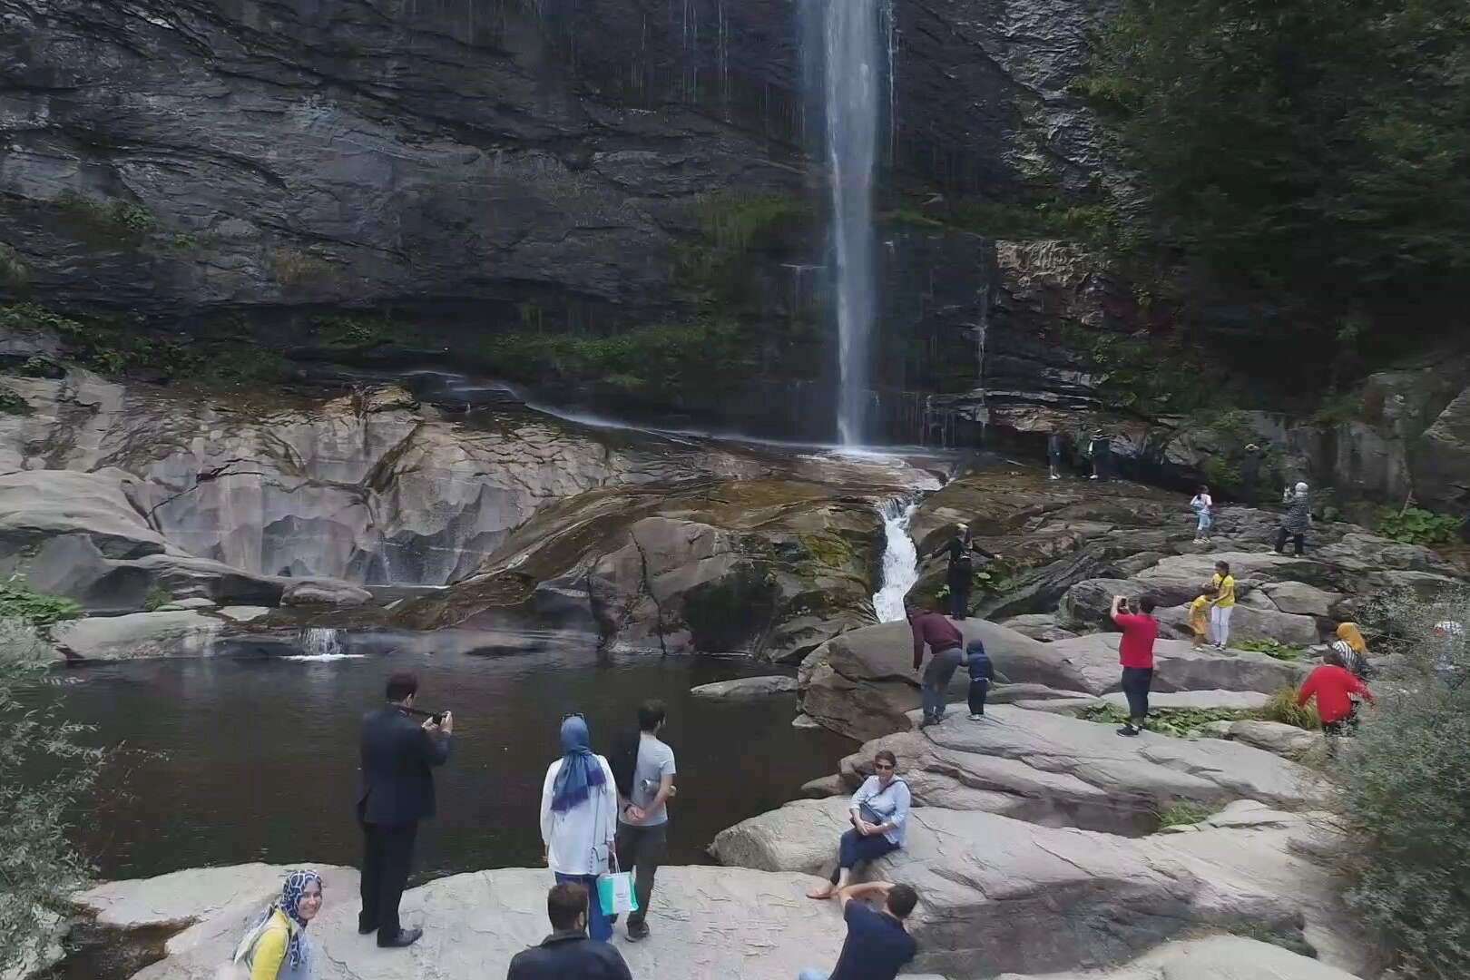
M357 823L363 829L363 911L357 932L376 930L382 948L412 946L422 929L400 929L398 899L409 880L419 821L434 815L434 771L450 757L454 718L435 724L410 714L419 679L388 677L388 704L363 716Z

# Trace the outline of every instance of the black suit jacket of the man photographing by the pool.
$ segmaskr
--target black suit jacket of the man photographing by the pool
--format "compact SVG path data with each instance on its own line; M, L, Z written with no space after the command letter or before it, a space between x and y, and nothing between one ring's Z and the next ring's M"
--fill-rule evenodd
M434 815L434 767L450 757L450 736L429 735L422 721L392 705L363 716L357 820L415 823Z

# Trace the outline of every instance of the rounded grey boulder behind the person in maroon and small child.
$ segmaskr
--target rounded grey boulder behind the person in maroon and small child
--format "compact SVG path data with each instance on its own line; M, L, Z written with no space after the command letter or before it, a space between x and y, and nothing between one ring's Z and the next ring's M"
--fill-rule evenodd
M970 619L958 626L966 642L985 642L998 682L1088 691L1083 674L1057 652L1057 644L1041 644L985 620ZM919 707L919 677L908 623L848 630L801 663L801 710L833 732L856 739L878 738L908 727L906 713ZM951 691L963 692L967 683L960 669Z

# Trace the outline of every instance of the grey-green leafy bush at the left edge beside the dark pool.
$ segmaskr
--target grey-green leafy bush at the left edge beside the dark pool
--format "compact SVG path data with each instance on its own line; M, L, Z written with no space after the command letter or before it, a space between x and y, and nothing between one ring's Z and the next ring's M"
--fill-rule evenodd
M103 752L60 717L47 644L32 624L0 619L0 974L34 962L91 870L68 840L66 814L90 789Z

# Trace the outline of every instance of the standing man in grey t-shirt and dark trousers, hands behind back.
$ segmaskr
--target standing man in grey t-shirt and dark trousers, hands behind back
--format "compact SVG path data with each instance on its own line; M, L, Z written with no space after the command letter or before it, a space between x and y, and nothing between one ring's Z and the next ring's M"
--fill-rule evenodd
M632 799L617 808L617 867L632 870L638 911L628 915L628 939L648 937L648 902L653 879L669 849L669 799L673 788L673 749L659 741L663 730L662 701L638 708L638 761L634 765Z

